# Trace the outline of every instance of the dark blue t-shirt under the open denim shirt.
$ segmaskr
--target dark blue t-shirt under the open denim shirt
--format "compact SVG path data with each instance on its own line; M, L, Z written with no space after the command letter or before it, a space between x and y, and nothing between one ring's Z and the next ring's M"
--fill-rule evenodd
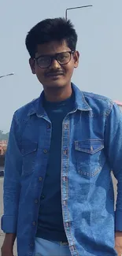
M74 95L63 102L47 102L44 109L52 123L49 161L39 208L37 237L67 241L61 209L61 136L62 122L74 108Z

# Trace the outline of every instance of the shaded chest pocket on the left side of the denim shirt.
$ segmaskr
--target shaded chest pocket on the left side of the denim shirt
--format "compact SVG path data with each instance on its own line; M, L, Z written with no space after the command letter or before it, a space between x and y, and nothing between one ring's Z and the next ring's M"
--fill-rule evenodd
M23 142L20 152L23 157L22 175L29 175L35 169L35 157L37 153L38 143Z

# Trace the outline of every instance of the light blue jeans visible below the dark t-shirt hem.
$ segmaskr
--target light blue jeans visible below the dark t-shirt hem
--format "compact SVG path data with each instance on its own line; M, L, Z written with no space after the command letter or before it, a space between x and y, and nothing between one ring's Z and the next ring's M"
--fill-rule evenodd
M36 237L33 256L71 256L71 253L68 243L48 241Z

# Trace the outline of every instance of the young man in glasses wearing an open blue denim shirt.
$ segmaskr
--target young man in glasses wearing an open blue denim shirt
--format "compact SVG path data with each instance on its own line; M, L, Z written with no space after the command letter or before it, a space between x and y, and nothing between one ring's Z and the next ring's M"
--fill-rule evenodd
M122 116L108 98L71 83L76 42L71 22L61 18L43 20L27 35L43 93L13 116L2 256L13 255L16 237L19 256L122 254Z

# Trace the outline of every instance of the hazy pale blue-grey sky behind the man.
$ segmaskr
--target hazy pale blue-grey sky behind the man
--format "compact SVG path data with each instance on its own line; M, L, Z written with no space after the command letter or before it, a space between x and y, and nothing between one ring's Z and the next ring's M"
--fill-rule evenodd
M0 129L9 131L14 111L39 97L42 85L31 74L25 37L40 20L65 17L68 11L78 33L79 68L72 82L122 102L122 0L4 0L0 3Z

